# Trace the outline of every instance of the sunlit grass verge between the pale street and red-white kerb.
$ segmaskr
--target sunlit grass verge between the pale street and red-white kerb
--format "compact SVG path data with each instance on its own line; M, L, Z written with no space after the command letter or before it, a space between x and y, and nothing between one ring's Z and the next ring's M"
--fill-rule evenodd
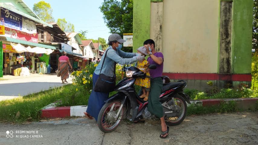
M39 120L41 108L60 100L68 91L71 91L71 86L65 85L24 97L0 101L0 121L21 123L27 120ZM20 115L17 115L18 112Z

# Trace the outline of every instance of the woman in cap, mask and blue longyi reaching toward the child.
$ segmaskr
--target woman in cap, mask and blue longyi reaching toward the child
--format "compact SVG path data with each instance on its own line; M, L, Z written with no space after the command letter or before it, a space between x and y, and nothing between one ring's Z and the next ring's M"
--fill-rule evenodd
M121 50L122 43L124 43L125 40L121 38L119 34L111 34L108 37L108 45L106 52L107 56L104 59L101 59L98 66L96 67L94 73L93 73L93 87L99 77L100 69L103 64L103 68L101 70L101 73L105 74L106 76L114 76L114 63L119 64L132 64L136 62L137 60L143 59L144 56L141 56L141 54L138 53L126 53ZM103 56L105 56L105 53ZM96 121L98 121L98 114L101 110L102 106L105 104L105 100L108 99L109 93L103 93L103 92L95 92L92 89L89 102L88 102L88 108L86 112L84 112L85 116L89 119L95 118Z

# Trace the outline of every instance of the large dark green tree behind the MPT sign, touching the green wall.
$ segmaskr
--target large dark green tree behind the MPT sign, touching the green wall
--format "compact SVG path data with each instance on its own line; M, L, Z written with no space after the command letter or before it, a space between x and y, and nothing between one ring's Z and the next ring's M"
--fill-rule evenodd
M133 0L104 0L99 8L111 33L133 33Z

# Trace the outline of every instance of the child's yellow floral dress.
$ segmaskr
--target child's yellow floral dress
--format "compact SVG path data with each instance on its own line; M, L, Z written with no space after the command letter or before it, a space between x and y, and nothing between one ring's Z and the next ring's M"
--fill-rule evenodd
M144 69L147 69L146 65L148 64L147 60L144 60L142 63L140 63L139 61L137 62L137 68L140 69L141 71L143 71ZM147 76L150 76L150 72L146 72ZM145 88L150 88L150 78L145 78L145 79L141 79L141 78L137 78L135 81L135 85L139 85Z

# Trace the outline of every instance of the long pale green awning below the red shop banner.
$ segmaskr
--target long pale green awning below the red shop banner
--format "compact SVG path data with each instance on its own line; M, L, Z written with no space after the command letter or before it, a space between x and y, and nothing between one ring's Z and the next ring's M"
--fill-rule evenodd
M50 46L50 45L44 45L44 44L40 44L40 43L33 43L33 42L19 40L19 39L10 38L10 37L0 36L0 40L56 50L56 47L53 47L53 46Z

